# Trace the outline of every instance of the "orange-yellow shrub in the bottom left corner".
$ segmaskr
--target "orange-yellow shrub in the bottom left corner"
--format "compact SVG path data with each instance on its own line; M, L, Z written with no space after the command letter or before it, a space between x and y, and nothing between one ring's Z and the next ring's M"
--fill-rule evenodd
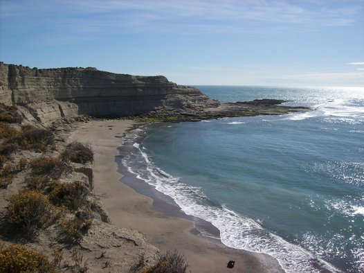
M0 246L0 272L56 272L54 263L34 249L22 245Z

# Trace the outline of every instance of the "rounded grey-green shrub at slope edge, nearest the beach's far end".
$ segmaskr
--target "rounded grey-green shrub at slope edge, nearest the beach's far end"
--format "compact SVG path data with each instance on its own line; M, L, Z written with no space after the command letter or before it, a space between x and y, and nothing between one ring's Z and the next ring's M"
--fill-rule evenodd
M89 144L83 144L78 141L69 143L66 150L62 154L62 159L65 161L72 161L75 163L85 164L93 162L93 150Z

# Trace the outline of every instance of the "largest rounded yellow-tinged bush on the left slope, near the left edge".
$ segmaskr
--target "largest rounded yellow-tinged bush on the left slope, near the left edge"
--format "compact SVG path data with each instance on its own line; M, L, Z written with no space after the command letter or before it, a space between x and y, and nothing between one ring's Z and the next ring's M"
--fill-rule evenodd
M10 197L5 220L12 231L22 231L33 238L57 218L57 209L39 191L21 191Z

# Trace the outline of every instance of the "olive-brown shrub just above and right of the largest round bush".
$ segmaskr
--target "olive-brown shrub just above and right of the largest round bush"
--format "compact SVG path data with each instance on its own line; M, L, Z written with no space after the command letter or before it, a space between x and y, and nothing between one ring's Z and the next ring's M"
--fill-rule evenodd
M55 183L49 193L49 200L57 206L66 206L71 211L78 210L87 202L89 188L80 181Z

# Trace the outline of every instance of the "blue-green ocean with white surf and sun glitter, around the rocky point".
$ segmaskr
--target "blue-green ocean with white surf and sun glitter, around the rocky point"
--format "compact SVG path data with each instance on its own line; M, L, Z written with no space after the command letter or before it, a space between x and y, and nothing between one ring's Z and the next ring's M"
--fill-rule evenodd
M145 125L125 136L120 164L229 247L286 272L364 272L364 88L197 88L313 111Z

